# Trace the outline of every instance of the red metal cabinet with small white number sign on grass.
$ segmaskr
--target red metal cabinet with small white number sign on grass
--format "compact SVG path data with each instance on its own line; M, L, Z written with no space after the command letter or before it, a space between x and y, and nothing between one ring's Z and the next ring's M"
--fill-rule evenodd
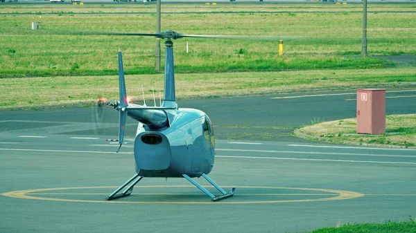
M357 133L385 133L385 90L357 90Z

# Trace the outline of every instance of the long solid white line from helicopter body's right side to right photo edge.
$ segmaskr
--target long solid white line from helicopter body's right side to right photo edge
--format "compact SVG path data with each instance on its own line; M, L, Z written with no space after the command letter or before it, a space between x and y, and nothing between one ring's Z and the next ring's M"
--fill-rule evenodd
M300 153L313 155L336 155L336 156L371 156L371 157L400 157L400 158L416 158L415 156L397 156L388 154L370 154L370 153L336 153L336 152L309 152L309 151L263 151L255 149L216 149L216 151L240 151L240 152L259 152L259 153Z

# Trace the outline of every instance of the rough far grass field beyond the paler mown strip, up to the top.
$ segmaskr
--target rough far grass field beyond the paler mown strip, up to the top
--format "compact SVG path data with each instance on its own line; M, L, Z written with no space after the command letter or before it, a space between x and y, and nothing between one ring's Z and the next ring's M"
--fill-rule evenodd
M151 12L150 6L117 7L114 11ZM175 41L178 73L229 71L286 71L311 69L386 68L392 62L361 58L360 5L313 4L249 5L261 13L165 14L162 30L186 34L281 35L286 55L277 55L278 41L230 39L180 39ZM242 6L169 6L169 12L236 11ZM370 5L368 15L370 55L416 54L415 5ZM387 10L383 10L383 8ZM105 10L103 10L105 9ZM0 15L0 78L51 75L115 75L116 52L125 57L126 74L154 72L155 39L148 37L51 35L79 31L154 32L155 15L74 15L71 12L108 12L110 6L61 5L49 8L14 6L0 12L39 12L37 15ZM277 11L281 13L273 13ZM309 11L309 13L296 13ZM270 11L270 12L268 12ZM334 11L336 11L334 13ZM339 11L339 12L338 12ZM58 12L48 15L46 12ZM59 12L62 12L60 14ZM69 14L64 14L69 12ZM410 13L409 13L410 12ZM41 18L40 18L41 17ZM31 30L42 21L42 30ZM189 42L189 53L185 46ZM163 56L163 54L162 54Z

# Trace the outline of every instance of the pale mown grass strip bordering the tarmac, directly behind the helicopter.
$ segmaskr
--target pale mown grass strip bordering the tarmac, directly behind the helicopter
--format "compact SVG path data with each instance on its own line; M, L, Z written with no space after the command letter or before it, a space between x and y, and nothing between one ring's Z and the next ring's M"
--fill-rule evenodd
M381 69L329 69L316 71L245 72L245 73L177 73L177 98L205 98L311 90L410 86L416 80L416 67ZM119 98L117 75L3 78L0 80L0 108L32 106L66 106L80 102L91 104L98 97ZM146 99L153 100L164 89L164 77L125 75L127 93L141 101L141 85Z

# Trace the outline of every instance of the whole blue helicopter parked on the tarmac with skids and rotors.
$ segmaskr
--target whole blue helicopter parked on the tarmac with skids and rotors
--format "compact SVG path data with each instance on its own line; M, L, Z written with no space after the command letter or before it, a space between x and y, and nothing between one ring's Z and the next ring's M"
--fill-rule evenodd
M133 187L144 177L185 178L207 194L212 201L233 196L234 187L231 192L227 193L208 176L214 167L215 158L215 137L211 120L207 114L198 109L180 109L175 98L172 39L213 36L183 35L171 30L155 34L112 33L112 35L154 36L166 39L164 43L166 48L162 106L128 103L121 51L119 51L120 100L98 101L98 106L108 106L119 111L119 149L123 145L127 116L137 120L139 127L142 127L137 133L134 144L136 174L106 199L110 201L129 196L132 194ZM201 176L218 189L220 195L212 194L192 179Z

